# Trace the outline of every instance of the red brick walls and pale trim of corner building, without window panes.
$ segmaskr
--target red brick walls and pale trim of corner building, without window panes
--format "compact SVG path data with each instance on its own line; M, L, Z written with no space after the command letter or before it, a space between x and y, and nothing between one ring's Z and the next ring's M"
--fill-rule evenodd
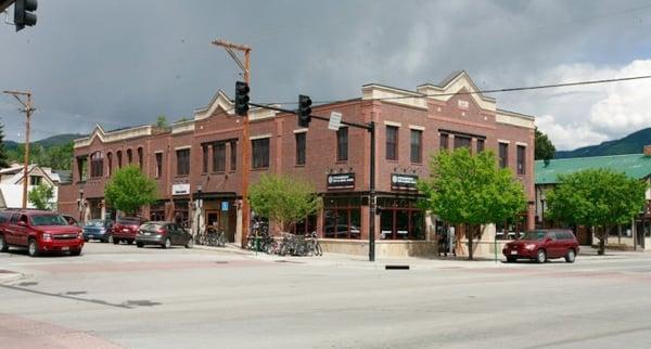
M421 91L422 89L422 91ZM534 128L533 118L500 111L495 107L495 101L477 94L467 94L474 92L476 88L468 78L465 73L460 73L455 78L448 80L444 86L423 86L419 87L419 92L431 93L431 91L460 92L451 98L414 98L417 92L404 91L382 86L365 86L361 99L339 102L328 105L314 107L312 114L328 116L331 112L340 112L346 121L366 124L374 121L376 125L376 191L380 197L386 199L414 201L417 194L413 192L396 191L392 189L392 173L411 174L419 178L429 176L429 156L439 150L441 134L448 134L448 147L454 148L455 137L471 138L471 148L476 152L477 141L484 141L485 150L493 150L498 154L498 142L508 144L509 167L516 173L516 147L525 146L524 173L519 174L524 184L528 199L534 199ZM443 93L442 93L443 94ZM378 96L384 100L378 100ZM103 198L103 189L108 179L107 154L111 153L112 170L118 167L117 152L122 152L122 164L127 164L127 152L131 150L132 163L139 164L139 148L142 148L142 166L145 173L156 178L156 154L163 159L163 170L156 181L158 183L158 194L162 199L156 208L144 208L143 215L150 216L153 211L162 211L165 218L170 219L175 216L175 210L188 211L192 209L191 201L199 194L206 202L214 201L215 205L209 206L215 209L214 216L221 220L228 216L228 228L235 230L239 224L238 201L241 192L241 170L242 170L242 121L241 118L232 114L232 107L228 99L218 93L207 107L196 111L193 120L175 124L171 131L157 130L153 127L140 127L113 132L104 132L98 127L93 133L87 138L76 141L75 156L78 158L90 158L94 152L104 154L104 171L100 178L89 178L85 182L80 181L80 172L75 161L73 168L73 184L63 186L60 190L60 208L62 211L79 216L79 198L87 206L89 201L100 202ZM397 159L386 159L386 127L397 127ZM420 163L412 163L410 159L410 133L411 130L422 132L422 155ZM296 141L297 132L306 132L306 163L296 165ZM269 167L265 169L253 169L251 172L251 182L255 183L260 173L289 173L296 177L303 177L311 181L317 191L324 195L326 206L329 206L331 197L354 197L350 203L358 207L353 214L346 211L320 212L316 219L316 230L320 236L324 236L324 224L340 224L341 214L350 215L348 221L355 221L360 230L360 234L355 237L365 241L368 238L369 207L368 201L365 201L365 193L369 190L369 163L370 163L370 134L367 130L349 128L348 129L348 158L347 160L337 160L336 132L329 130L327 122L312 119L309 129L302 130L297 127L296 117L291 114L273 113L268 111L253 111L251 113L250 137L252 139L269 139ZM226 170L213 172L213 143L226 142ZM235 143L233 143L235 142ZM231 170L231 148L237 144L237 164L234 170ZM177 150L190 150L190 173L188 176L177 174ZM208 171L203 172L203 150L208 154ZM90 166L88 160L87 166ZM329 190L327 188L327 178L329 173L355 173L355 185L347 190ZM90 173L90 170L88 171ZM188 193L173 195L173 185L189 184ZM177 188L182 188L178 186ZM82 190L82 192L80 192ZM173 203L176 201L176 204ZM165 203L166 202L166 203ZM221 202L228 202L228 207L221 206ZM335 199L330 201L334 203ZM97 205L97 204L95 204ZM333 204L333 205L342 205ZM403 205L403 204L396 204ZM410 206L409 204L408 206ZM105 208L100 210L105 211ZM98 209L87 212L86 217L98 216ZM219 211L219 212L218 212ZM334 214L333 214L334 212ZM191 212L188 212L191 215ZM324 223L329 215L334 215L336 222ZM359 217L358 217L359 215ZM396 224L409 227L408 230L419 230L414 228L413 222L421 220L418 214L407 211L397 211L394 216L393 235L394 238L406 238L411 236L411 232L405 233L406 228L395 228ZM401 215L401 216L400 216ZM407 216L405 216L407 215ZM412 217L413 215L413 217ZM404 223L401 218L407 217L409 223ZM388 216L387 216L388 217ZM527 212L528 228L533 228L533 208ZM378 217L375 221L376 237L379 240L392 235L390 233L391 224L384 222L384 232L381 220L390 218ZM343 219L342 221L345 221ZM339 225L337 225L339 227ZM339 228L337 228L339 229ZM352 228L348 227L348 230ZM397 230L397 231L396 231ZM337 231L335 229L335 231ZM426 237L423 228L419 236ZM396 232L399 234L396 235ZM334 233L336 235L336 233ZM353 234L353 233L350 233ZM348 234L348 235L350 235ZM384 235L383 235L384 234ZM401 235L400 235L401 234ZM401 237L395 237L400 235ZM230 240L234 238L234 232L231 232ZM336 237L336 236L328 236ZM348 236L350 237L350 236Z

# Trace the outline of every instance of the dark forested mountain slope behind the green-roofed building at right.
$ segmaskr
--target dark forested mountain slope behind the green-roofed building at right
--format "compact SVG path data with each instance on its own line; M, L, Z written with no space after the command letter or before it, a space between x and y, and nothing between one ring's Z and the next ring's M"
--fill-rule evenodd
M642 147L644 145L651 145L651 128L642 129L622 139L607 141L599 145L584 146L574 151L557 152L556 158L642 153Z

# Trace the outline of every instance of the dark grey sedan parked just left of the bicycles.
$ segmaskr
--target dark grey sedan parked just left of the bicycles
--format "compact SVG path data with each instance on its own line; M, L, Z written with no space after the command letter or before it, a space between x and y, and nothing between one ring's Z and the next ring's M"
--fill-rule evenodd
M192 248L194 242L192 241L192 235L177 223L155 221L140 225L136 235L136 245L138 247L159 245L163 248L180 245Z

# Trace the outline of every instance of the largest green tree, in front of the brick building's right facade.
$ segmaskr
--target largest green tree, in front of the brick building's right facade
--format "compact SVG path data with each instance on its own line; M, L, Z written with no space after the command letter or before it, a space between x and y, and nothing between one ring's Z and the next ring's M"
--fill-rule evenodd
M493 152L471 155L465 147L441 152L430 163L431 177L419 181L423 208L451 224L463 224L468 257L482 225L512 219L526 208L522 184L506 168L498 168Z

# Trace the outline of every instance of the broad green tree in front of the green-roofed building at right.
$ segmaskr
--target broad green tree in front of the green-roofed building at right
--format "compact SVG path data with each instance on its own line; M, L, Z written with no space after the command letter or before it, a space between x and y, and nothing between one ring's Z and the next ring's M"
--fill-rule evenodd
M603 255L608 230L630 222L644 205L646 190L644 182L610 169L560 174L558 185L547 195L549 215L565 223L595 229L599 255Z

